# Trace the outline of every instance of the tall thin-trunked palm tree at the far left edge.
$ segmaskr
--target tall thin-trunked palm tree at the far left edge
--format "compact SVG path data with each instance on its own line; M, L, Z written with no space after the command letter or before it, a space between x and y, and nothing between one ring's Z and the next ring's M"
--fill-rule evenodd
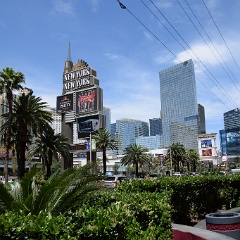
M25 83L25 77L21 72L15 72L13 68L5 68L0 72L0 93L6 94L8 106L8 126L3 137L4 145L6 148L6 177L5 181L8 182L8 160L9 150L11 148L11 128L12 128L12 106L13 106L13 91L22 89L22 84ZM6 106L6 103L4 103Z

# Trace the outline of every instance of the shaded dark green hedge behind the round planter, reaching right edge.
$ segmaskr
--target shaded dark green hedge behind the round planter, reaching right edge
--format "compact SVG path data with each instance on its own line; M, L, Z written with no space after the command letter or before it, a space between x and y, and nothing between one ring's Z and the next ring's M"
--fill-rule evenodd
M119 185L119 192L172 190L174 223L191 225L207 213L239 206L240 175L203 175L132 180Z

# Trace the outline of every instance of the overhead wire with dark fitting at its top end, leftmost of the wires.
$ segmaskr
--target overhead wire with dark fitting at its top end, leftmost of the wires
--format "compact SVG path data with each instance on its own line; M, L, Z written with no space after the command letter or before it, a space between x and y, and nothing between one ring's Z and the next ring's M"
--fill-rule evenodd
M120 0L117 0L120 7L122 9L127 10L148 32L150 32L178 61L181 63L181 60L146 26L144 25L125 5L123 5ZM188 69L188 68L187 68ZM191 73L193 73L191 70L189 70ZM196 77L197 78L197 77ZM204 87L206 87L227 109L230 110L230 108L216 95L214 94L199 78L197 78Z

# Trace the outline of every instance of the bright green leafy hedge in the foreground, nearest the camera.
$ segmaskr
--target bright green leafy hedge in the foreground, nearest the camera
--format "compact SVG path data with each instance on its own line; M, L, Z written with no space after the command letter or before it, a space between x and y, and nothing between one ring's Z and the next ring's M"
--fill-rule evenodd
M0 239L172 239L170 193L111 192L52 217L0 215Z

